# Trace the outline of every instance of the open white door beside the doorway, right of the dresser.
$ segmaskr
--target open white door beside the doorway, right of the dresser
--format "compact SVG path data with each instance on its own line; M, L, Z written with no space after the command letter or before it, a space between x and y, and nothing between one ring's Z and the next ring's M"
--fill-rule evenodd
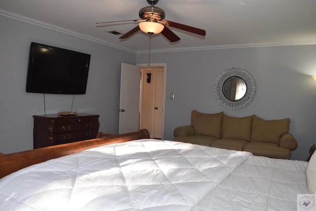
M121 64L118 133L139 130L140 67Z

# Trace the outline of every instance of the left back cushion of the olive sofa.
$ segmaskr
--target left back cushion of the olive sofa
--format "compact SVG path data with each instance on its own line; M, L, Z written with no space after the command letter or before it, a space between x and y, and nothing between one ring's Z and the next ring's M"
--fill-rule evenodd
M191 125L195 129L195 134L220 138L222 132L223 114L224 112L204 114L193 110L191 113Z

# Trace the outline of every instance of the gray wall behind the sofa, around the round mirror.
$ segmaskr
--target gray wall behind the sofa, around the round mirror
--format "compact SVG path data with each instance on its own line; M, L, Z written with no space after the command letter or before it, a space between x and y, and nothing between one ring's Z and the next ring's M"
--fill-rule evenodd
M144 55L137 63L146 63ZM164 139L173 138L175 127L190 125L193 109L266 120L288 117L298 141L292 159L307 159L315 143L316 45L152 53L151 62L167 63ZM216 78L231 67L247 70L257 84L254 100L241 110L225 109L214 95Z

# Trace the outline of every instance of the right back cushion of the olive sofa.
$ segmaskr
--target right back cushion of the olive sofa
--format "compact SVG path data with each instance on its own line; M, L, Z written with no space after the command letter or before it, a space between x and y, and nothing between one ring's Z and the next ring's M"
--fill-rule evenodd
M288 133L289 127L289 118L282 120L264 120L253 115L251 141L279 144L281 136Z

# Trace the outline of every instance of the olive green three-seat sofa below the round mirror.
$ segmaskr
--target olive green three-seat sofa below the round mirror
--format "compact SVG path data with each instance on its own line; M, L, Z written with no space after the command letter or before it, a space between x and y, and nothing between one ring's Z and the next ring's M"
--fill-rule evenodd
M230 117L224 112L204 114L193 110L191 125L175 128L173 140L290 159L297 141L289 133L289 125L289 118L264 120L256 115Z

